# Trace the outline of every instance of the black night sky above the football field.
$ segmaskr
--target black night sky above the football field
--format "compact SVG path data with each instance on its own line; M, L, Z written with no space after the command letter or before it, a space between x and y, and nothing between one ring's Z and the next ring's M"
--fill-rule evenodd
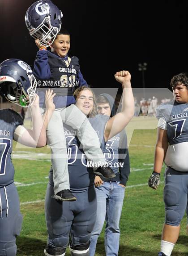
M37 48L25 25L34 0L0 0L1 55L33 67ZM188 1L53 0L71 33L69 55L93 87L116 87L114 73L126 69L132 86L142 86L138 63L148 63L146 87L168 87L171 76L188 70Z

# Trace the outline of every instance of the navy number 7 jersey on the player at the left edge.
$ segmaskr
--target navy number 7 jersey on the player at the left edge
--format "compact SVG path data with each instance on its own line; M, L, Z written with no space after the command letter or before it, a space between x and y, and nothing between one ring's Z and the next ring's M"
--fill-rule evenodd
M11 109L0 109L0 188L14 181L14 166L11 161L14 131L22 125L21 116Z

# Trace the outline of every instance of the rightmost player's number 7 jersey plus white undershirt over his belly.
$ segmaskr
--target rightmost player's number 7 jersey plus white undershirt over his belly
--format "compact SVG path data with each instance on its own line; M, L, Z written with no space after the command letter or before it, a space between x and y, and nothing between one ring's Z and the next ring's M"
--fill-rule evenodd
M188 103L162 104L157 109L157 117L159 127L167 130L169 147L165 164L176 171L188 171Z

